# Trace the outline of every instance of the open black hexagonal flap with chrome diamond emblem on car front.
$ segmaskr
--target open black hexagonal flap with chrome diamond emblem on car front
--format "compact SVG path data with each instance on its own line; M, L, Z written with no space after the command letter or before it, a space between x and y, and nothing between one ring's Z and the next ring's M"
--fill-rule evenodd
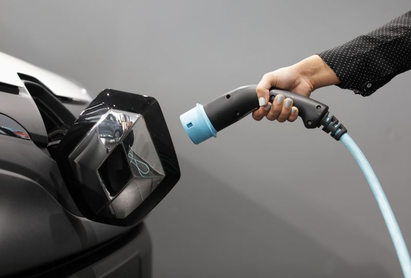
M81 113L55 155L81 213L111 225L138 223L180 177L158 102L111 89Z

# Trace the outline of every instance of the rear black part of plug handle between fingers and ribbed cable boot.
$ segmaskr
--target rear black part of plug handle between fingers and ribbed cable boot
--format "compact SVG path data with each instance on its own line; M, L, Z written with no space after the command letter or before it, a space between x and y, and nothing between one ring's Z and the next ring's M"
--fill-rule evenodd
M320 127L321 120L328 111L328 106L316 100L295 94L286 90L271 88L270 102L274 101L278 94L284 95L285 98L290 98L293 101L293 106L298 108L298 116L303 119L304 125L307 128Z

